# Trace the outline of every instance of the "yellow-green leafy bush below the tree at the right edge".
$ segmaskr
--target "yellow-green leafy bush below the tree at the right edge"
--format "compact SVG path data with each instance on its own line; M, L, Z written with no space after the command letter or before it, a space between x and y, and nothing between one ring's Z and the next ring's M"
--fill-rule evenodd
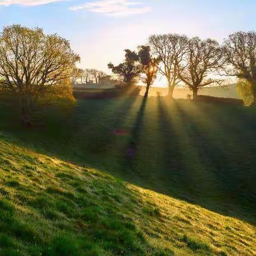
M253 87L245 79L239 79L237 83L237 92L244 101L245 106L251 106L254 101Z

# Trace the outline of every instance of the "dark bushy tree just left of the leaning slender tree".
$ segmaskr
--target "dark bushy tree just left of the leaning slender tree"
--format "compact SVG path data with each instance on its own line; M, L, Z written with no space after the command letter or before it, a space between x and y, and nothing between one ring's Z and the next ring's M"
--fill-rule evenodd
M118 66L112 63L108 64L108 68L112 70L115 75L121 78L122 83L126 87L132 87L136 84L137 79L141 73L138 65L139 56L136 52L125 50L125 60Z

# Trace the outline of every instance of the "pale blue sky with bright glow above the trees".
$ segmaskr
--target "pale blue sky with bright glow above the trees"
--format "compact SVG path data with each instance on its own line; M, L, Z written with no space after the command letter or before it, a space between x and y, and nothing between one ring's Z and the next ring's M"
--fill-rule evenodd
M82 68L108 71L151 34L212 37L256 30L255 0L0 0L0 30L21 24L69 39Z

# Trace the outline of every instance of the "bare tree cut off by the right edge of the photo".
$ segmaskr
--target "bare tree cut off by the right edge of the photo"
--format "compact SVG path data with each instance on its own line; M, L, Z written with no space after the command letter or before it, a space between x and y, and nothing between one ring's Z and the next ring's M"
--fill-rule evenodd
M256 101L256 32L239 31L224 42L228 76L236 76L251 84Z

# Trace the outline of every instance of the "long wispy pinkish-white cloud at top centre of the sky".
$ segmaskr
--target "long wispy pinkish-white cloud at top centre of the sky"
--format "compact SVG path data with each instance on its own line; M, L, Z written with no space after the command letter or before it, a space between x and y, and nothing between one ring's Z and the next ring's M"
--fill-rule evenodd
M107 14L115 17L143 14L150 11L147 6L141 3L130 2L130 0L98 0L83 5L69 8L72 11L87 9L91 12Z

